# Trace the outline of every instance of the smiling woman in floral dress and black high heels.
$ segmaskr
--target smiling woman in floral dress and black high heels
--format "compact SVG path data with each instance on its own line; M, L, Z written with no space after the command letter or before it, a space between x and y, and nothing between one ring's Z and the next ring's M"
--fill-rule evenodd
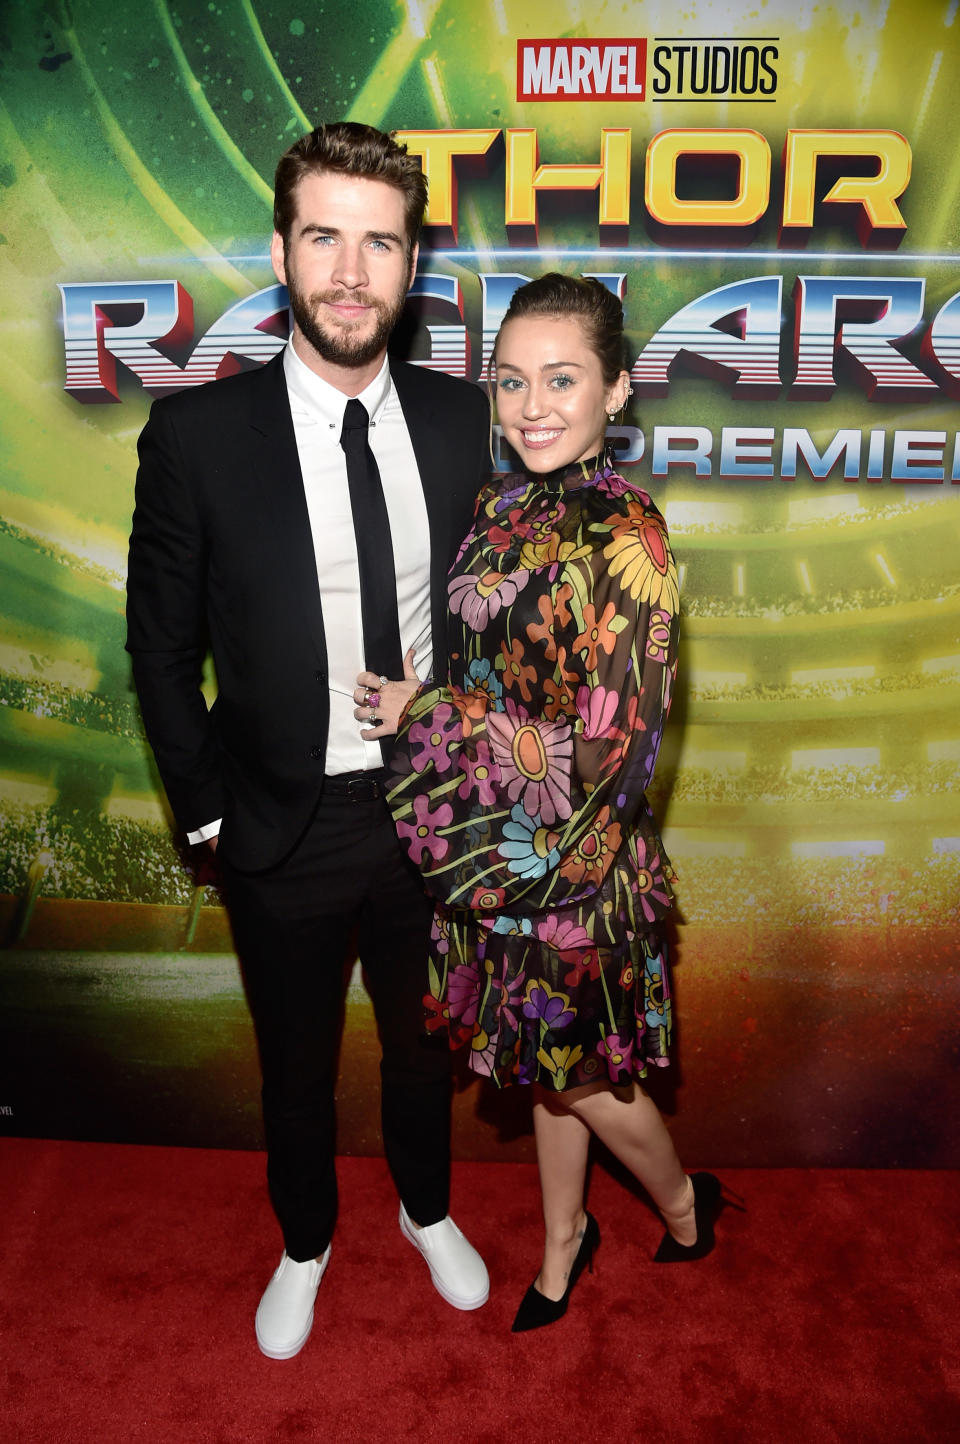
M515 1331L566 1311L599 1243L590 1132L660 1209L657 1261L709 1252L720 1206L637 1082L670 1041L670 864L644 790L678 593L660 513L603 453L629 394L622 328L596 280L514 295L495 390L524 472L484 488L450 572L450 684L407 666L403 683L361 673L355 695L364 735L403 710L388 800L437 900L427 1027L475 1071L533 1087L546 1245Z

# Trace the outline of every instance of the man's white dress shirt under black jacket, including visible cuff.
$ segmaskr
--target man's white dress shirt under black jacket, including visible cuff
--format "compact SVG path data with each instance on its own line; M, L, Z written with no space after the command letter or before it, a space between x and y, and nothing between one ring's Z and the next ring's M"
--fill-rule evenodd
M383 758L380 744L365 742L359 735L361 726L367 723L357 722L354 716L357 673L365 667L357 534L346 484L346 456L341 446L344 412L349 397L310 371L293 349L292 341L283 354L283 371L313 536L326 638L331 725L325 771L355 773L381 767ZM417 674L429 677L433 640L427 508L410 433L385 358L358 400L370 416L370 448L377 458L390 518L400 643L404 654L409 647L416 647ZM188 833L188 840L205 842L218 832L219 820Z

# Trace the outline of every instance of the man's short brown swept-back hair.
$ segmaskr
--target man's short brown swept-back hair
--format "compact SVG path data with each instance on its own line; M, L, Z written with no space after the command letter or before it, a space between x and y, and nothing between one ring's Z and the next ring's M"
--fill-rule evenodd
M296 188L305 176L333 173L383 180L400 191L407 251L413 251L427 208L427 179L407 147L372 126L336 120L300 136L280 156L273 183L273 228L286 245L296 215Z

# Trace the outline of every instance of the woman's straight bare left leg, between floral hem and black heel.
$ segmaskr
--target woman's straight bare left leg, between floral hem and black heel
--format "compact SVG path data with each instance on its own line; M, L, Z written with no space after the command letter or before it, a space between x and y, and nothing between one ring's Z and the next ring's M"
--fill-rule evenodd
M590 1129L570 1110L562 1093L534 1083L533 1131L546 1227L543 1265L536 1282L547 1298L560 1298L586 1225L583 1187Z

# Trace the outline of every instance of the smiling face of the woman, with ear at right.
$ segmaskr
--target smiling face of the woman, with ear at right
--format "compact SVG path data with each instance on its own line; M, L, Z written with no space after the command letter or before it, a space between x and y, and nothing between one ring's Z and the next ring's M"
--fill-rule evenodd
M518 316L497 338L497 414L527 471L556 471L603 448L606 413L627 400L629 374L606 386L573 316Z

